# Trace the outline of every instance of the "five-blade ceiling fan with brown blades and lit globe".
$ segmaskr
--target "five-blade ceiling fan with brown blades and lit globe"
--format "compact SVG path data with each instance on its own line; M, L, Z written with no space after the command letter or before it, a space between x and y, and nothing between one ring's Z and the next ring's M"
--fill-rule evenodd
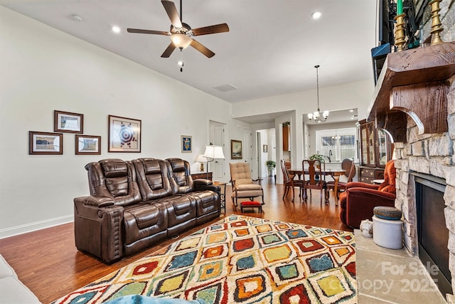
M183 23L181 20L182 16L182 0L180 0L180 17L178 16L176 5L173 1L161 0L169 19L171 19L171 30L170 31L151 31L143 30L139 28L127 28L128 33L149 33L152 35L165 35L171 36L171 43L166 48L161 57L168 58L175 48L179 48L181 51L187 46L193 46L196 50L203 53L208 58L215 56L213 51L203 46L198 41L194 40L193 36L208 35L210 33L225 33L229 31L229 26L226 23L220 23L213 26L204 26L202 28L191 28L187 23Z

